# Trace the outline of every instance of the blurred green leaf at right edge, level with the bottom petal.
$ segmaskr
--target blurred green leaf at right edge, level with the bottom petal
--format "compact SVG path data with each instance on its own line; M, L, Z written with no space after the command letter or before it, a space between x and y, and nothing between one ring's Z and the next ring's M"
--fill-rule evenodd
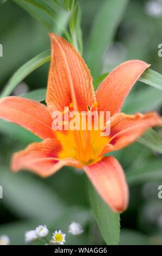
M152 159L142 166L132 167L126 171L126 178L130 185L162 179L162 160Z

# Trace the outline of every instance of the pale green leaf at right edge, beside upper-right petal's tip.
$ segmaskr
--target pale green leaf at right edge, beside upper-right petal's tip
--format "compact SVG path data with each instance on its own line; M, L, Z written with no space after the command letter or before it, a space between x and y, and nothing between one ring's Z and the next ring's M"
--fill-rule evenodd
M139 81L162 90L162 75L151 69L147 69L139 78Z

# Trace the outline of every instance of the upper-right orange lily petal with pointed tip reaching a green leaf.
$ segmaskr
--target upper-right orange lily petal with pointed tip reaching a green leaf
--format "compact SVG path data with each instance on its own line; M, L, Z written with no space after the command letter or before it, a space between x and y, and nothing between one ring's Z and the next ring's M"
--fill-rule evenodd
M111 116L120 112L130 89L148 67L140 60L129 60L111 71L96 91L98 109L110 111Z

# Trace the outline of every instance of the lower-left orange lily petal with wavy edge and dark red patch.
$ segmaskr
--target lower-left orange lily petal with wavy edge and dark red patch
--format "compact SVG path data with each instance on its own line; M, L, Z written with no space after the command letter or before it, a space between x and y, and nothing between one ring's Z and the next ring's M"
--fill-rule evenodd
M26 149L13 155L11 169L14 172L28 169L46 177L57 172L65 165L80 168L79 162L74 159L58 159L60 151L61 144L58 139L45 139L40 143L32 143Z

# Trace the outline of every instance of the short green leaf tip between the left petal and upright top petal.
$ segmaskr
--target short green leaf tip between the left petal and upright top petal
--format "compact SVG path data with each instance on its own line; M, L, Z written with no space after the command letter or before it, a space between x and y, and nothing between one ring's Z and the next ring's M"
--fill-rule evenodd
M45 101L46 92L47 92L46 88L36 89L36 90L33 90L32 92L21 95L21 97L25 97L30 100L36 100L41 102L41 101Z

